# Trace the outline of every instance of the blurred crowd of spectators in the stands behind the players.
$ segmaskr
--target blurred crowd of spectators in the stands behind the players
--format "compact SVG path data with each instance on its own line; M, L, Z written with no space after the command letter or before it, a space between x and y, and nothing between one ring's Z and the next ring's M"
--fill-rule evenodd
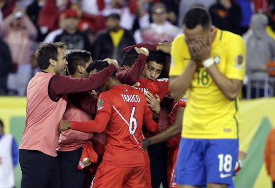
M34 53L41 43L61 41L66 53L83 49L93 60L122 64L125 47L172 41L182 33L192 6L209 10L215 27L244 37L243 97L274 96L274 0L0 0L0 95L26 95L39 71Z

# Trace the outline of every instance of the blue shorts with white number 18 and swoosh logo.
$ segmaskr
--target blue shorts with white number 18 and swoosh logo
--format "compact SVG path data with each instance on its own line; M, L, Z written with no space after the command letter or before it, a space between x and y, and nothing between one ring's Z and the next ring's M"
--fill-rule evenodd
M239 139L181 138L175 182L193 186L233 184L238 151Z

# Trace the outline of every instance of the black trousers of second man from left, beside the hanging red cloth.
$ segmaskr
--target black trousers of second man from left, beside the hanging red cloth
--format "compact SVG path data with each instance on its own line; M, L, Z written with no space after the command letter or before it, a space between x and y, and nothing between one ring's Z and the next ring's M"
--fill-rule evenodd
M61 188L83 188L86 171L77 169L82 147L69 152L57 151L61 169Z

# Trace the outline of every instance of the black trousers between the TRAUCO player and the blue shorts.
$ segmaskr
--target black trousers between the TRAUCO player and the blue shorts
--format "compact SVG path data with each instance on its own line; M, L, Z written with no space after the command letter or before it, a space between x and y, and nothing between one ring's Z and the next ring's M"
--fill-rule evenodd
M152 188L160 188L161 184L163 184L163 188L169 187L166 175L167 154L168 147L166 142L148 147Z

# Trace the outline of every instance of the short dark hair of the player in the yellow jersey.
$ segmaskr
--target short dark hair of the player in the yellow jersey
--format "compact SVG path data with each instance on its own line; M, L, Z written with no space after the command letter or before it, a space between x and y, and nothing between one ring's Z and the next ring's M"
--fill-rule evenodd
M205 30L212 25L211 16L205 8L194 6L186 13L183 25L189 29L201 25L203 30Z

